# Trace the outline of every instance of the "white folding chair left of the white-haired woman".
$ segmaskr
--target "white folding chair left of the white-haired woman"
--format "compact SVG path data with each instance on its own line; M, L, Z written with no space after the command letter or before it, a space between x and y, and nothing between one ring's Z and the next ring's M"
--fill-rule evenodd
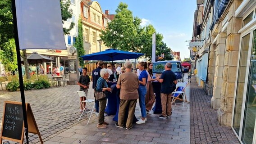
M91 115L92 115L92 113L95 113L94 111L93 111L93 109L94 109L94 107L95 107L95 99L88 99L87 98L87 95L85 94L85 92L84 91L77 91L77 94L78 94L78 97L79 97L79 102L83 105L83 103L86 103L85 104L85 107L83 108L83 111L82 111L82 114L83 114L83 112L85 111L85 109L87 108L87 105L89 104L92 104L93 103L93 107L91 108ZM80 100L80 97L85 97L86 98L86 100L84 100L84 101L81 101ZM89 113L89 112L86 112L87 114ZM79 119L78 119L78 121L80 120L80 118L82 117L82 114L81 114L81 116L79 117ZM88 120L88 122L87 122L87 125L88 125L88 123L89 123L89 121L90 121L90 119L91 119L91 115L90 115L90 117L89 117L89 120Z

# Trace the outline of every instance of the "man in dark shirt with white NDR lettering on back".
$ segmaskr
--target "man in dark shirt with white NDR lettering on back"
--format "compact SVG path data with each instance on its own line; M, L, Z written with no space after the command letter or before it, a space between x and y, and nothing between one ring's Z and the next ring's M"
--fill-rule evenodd
M97 68L92 71L92 88L93 89L96 87L97 81L101 77L100 72L104 66L104 62L99 61L96 63L96 66ZM99 100L96 100L96 99L95 99L95 109L96 109L96 112L99 112Z

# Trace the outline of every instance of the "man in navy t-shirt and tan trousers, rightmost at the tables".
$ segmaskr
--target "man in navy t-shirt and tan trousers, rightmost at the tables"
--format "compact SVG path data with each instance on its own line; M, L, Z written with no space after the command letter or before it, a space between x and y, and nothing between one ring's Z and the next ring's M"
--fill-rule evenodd
M172 114L172 91L173 84L177 84L176 75L171 71L172 63L165 64L165 71L162 72L159 82L161 83L161 104L162 104L162 115L159 118L166 119L171 118ZM167 104L167 111L166 111Z

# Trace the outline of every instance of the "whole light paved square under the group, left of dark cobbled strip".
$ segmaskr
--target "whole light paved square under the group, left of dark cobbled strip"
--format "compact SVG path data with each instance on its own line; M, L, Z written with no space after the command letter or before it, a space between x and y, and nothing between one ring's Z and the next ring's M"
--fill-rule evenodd
M173 106L172 118L164 120L158 117L160 114L147 115L146 124L133 124L130 130L116 127L116 122L112 120L114 115L106 116L105 121L110 123L109 127L98 129L95 115L89 125L86 125L88 115L83 115L77 122L80 116L77 90L78 85L68 85L25 91L26 102L31 104L44 144L189 144L188 103L184 110L181 105ZM92 92L90 88L90 98L93 98ZM189 88L187 92L189 99ZM3 115L5 100L21 101L20 92L0 91L0 115ZM138 103L136 109L135 115L139 118ZM1 125L2 118L0 128ZM40 144L35 134L29 133L29 141L30 144Z

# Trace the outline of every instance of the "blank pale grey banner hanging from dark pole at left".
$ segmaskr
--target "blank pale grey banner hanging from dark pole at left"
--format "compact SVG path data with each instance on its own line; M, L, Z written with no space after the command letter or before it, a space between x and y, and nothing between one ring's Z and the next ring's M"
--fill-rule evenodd
M60 0L15 0L20 49L67 49Z

